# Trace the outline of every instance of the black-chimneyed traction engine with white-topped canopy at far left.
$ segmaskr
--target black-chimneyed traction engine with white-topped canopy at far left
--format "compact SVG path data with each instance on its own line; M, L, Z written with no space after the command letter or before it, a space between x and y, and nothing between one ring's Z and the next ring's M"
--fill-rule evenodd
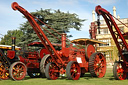
M16 56L15 37L12 38L12 47L0 45L0 79L6 80L9 76L13 80L21 80L26 75L26 65Z

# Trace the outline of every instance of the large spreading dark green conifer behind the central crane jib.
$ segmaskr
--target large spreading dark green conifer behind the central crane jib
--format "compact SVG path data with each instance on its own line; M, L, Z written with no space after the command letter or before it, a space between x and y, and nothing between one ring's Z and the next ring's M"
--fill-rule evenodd
M81 22L85 21L84 19L79 19L78 15L73 13L64 13L60 10L37 10L36 12L32 12L32 15L46 23L51 28L57 30L59 33L68 33L70 29L74 28L76 30L80 30L82 24ZM51 33L53 33L55 36L57 36L59 39L61 39L61 36L55 33L53 30L48 29L47 26L37 21L37 23L44 27L45 29L49 30ZM29 22L26 21L25 23L21 24L20 29L23 32L23 36L21 38L20 45L28 44L32 41L39 41L39 38L37 37L36 33L30 26ZM43 29L42 29L43 30ZM55 39L52 35L47 33L45 30L43 30L46 34L46 36L49 38L49 40L53 43L60 43L57 39ZM68 37L71 37L72 35L68 35Z

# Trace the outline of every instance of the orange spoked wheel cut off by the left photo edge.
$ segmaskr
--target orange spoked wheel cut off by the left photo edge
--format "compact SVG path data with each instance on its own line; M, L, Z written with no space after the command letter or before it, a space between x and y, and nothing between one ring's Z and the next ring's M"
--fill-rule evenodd
M0 79L7 80L9 79L9 72L5 69L2 62L0 61Z

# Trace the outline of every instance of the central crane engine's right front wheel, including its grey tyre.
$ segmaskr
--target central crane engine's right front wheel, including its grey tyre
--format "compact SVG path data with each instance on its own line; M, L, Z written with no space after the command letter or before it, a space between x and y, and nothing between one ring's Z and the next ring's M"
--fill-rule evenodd
M78 80L81 75L81 68L76 61L70 61L66 66L66 75L70 80Z

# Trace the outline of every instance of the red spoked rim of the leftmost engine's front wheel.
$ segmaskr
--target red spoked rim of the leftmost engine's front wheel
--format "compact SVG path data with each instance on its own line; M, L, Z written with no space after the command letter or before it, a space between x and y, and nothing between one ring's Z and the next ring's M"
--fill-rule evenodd
M17 63L12 68L12 76L16 80L22 80L26 75L26 68L23 64Z

